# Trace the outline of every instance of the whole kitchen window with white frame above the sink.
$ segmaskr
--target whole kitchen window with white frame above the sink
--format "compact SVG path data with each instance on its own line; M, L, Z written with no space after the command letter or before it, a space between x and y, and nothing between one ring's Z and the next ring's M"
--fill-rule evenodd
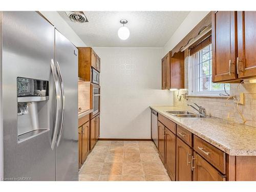
M201 45L202 47L202 45ZM200 50L190 50L193 53L188 63L189 95L224 96L229 94L229 83L212 82L212 50L211 44Z

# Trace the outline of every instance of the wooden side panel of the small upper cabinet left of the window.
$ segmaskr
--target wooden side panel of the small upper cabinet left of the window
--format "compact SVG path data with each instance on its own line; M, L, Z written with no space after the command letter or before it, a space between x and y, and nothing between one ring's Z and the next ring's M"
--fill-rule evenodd
M184 89L184 51L170 57L170 89Z

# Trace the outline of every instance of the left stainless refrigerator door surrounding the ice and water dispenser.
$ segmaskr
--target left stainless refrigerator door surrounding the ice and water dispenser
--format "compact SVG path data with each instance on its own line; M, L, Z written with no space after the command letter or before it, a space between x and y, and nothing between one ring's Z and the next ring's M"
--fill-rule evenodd
M52 25L36 12L3 12L4 178L7 180L55 180L55 151L51 149L54 123L52 58ZM49 100L37 105L36 114L40 116L45 112L46 120L39 123L48 131L20 143L17 141L17 77L50 82Z

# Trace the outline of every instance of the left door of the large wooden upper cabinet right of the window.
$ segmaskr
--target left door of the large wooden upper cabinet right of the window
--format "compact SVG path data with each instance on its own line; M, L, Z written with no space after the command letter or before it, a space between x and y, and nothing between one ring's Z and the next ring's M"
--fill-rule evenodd
M237 12L212 12L212 81L237 78Z

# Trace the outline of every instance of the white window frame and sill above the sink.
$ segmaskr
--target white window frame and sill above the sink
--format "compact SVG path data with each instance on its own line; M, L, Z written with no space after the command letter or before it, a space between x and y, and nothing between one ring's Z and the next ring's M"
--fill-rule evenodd
M205 47L207 47L209 45L210 44L204 46L202 49L204 49ZM227 89L226 89L226 92L224 90L200 91L200 69L198 70L198 65L200 65L199 52L202 49L200 49L199 51L197 51L193 55L189 54L189 57L188 57L188 95L191 95L191 96L210 96L210 97L218 96L218 97L220 97L221 96L220 94L226 95L226 92L228 94L230 94L230 90L227 90ZM209 70L211 70L211 69L209 69ZM211 77L211 81L212 81L212 75L209 74L208 76Z

